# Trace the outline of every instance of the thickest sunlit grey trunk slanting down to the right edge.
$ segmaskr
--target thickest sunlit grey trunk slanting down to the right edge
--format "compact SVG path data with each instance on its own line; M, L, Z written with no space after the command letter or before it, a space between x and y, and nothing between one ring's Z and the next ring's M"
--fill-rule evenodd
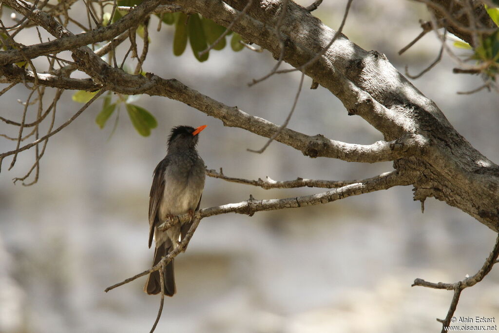
M227 1L241 9L244 0ZM227 25L236 10L218 0L177 0L175 3ZM256 1L234 27L247 41L268 49L275 58L279 43L271 27L281 1ZM298 67L311 59L333 37L334 31L305 8L288 2L281 26L284 61ZM366 51L341 35L325 56L305 74L329 89L349 114L363 117L386 140L406 133L426 138L427 149L394 162L411 178L414 199L435 197L467 212L494 231L499 230L499 167L461 136L437 105L415 88L384 54Z

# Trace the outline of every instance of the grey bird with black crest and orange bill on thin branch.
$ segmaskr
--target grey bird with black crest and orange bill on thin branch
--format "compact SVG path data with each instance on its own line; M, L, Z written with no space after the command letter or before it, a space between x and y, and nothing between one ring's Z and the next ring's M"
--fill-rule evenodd
M149 248L155 241L153 267L179 245L192 225L194 212L199 209L205 187L205 162L198 155L196 145L199 133L207 125L173 127L168 138L166 157L158 163L153 173L149 194ZM166 231L158 227L176 215L189 213L190 221L174 224ZM164 272L164 292L176 293L173 259ZM144 292L155 295L161 292L160 271L149 274Z

